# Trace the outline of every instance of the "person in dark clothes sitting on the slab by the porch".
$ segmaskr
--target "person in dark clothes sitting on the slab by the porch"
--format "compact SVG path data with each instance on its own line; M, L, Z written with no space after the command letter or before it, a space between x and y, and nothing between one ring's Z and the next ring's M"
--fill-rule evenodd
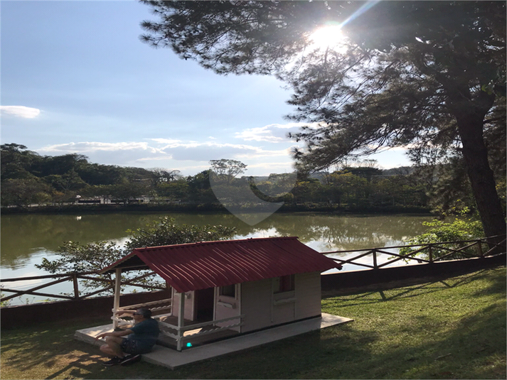
M106 344L100 351L112 357L104 362L105 366L129 364L141 359L141 354L150 352L159 337L159 323L151 317L151 310L120 310L117 315L129 314L134 318L135 325L127 330L103 332L95 337L106 338ZM125 337L128 335L127 337Z

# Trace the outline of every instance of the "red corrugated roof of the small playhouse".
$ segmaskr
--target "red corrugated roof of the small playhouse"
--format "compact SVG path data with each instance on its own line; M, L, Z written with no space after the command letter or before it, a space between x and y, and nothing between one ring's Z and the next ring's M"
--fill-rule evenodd
M101 273L149 267L178 292L341 269L297 237L203 241L134 249Z

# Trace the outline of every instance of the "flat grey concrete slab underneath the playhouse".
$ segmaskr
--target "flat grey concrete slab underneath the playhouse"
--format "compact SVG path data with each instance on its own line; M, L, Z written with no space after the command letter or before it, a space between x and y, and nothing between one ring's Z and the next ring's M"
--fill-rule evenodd
M218 357L220 355L242 351L243 349L260 346L261 344L276 342L277 340L294 337L295 335L304 334L305 332L320 330L325 327L340 325L341 323L351 321L353 321L351 318L322 313L322 317L320 318L301 320L299 322L272 327L250 334L239 335L238 337L231 337L226 340L221 340L220 342L184 349L182 352L156 345L153 351L149 354L144 354L142 359L152 364L175 369L186 364L201 362L202 360ZM75 332L75 339L100 346L103 343L95 340L95 337L102 332L111 330L112 325L78 330Z

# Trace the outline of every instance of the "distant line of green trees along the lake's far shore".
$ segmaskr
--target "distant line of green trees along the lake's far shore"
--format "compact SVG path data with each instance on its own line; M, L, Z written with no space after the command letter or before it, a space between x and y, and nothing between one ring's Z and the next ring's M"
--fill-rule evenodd
M238 178L246 165L234 160L210 161L210 170L242 202L245 183L262 200L298 205L332 205L343 210L474 210L466 181L452 184L452 167L404 167L380 170L375 161L336 170ZM144 169L90 163L86 156L41 156L16 143L1 145L1 206L65 205L78 200L153 204L219 205L210 185L210 170L183 176L178 170ZM505 179L500 181L505 188ZM444 190L442 189L444 188ZM505 192L503 192L505 193ZM248 205L245 205L248 206Z

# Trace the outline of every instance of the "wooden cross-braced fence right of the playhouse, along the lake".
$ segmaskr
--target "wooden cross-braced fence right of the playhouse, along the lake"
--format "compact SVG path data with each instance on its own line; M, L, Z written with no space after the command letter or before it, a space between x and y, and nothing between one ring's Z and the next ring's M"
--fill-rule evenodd
M388 249L410 249L406 254L396 254ZM362 252L357 256L348 259L338 259L330 257L342 266L346 264L363 266L366 268L380 269L396 261L417 261L417 263L434 263L437 261L452 259L469 259L472 257L485 257L497 253L506 252L506 235L497 235L494 237L485 237L482 239L461 240L461 241L442 241L440 243L427 244L408 244L402 246L385 246L383 248L371 249L352 249L346 251L328 251L322 254L351 254L352 252ZM388 255L387 261L379 264L379 256ZM422 256L425 255L425 256ZM358 261L364 257L370 256L370 263Z

